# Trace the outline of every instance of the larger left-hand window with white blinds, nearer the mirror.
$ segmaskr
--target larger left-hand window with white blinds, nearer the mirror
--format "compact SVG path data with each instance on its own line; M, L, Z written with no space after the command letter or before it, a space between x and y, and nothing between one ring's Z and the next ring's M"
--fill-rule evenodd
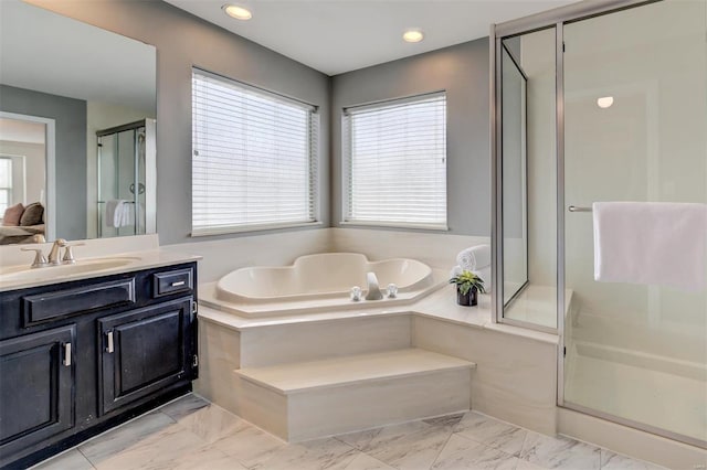
M192 72L192 235L317 221L314 106Z

